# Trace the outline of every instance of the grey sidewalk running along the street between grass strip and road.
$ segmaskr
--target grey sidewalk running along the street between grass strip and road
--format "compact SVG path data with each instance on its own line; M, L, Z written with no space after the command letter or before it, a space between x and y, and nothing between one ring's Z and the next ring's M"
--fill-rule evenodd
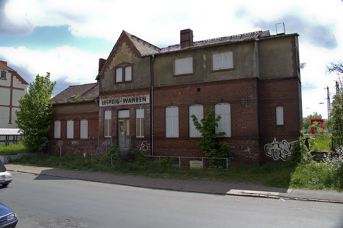
M5 165L7 170L14 172L32 173L71 179L97 181L154 189L169 189L176 191L201 192L211 194L228 194L248 197L264 197L274 199L293 199L320 201L343 204L343 192L327 190L306 190L265 187L250 183L222 182L211 180L178 180L148 178L131 175L114 175L99 172L85 172L79 170L65 170L22 165Z

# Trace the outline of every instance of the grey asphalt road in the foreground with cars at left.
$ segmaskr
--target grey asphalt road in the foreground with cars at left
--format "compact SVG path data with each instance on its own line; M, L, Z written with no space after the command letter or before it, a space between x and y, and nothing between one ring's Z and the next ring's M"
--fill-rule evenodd
M18 228L343 227L343 204L138 188L11 172Z

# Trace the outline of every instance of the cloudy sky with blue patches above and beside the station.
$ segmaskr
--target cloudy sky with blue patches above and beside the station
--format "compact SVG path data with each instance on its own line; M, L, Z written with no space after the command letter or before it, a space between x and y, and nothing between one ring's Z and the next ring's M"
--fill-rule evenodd
M107 59L122 30L164 48L259 30L299 34L303 117L328 118L339 76L326 65L343 60L343 0L327 1L114 1L0 0L0 60L28 83L50 73L53 96L70 85L95 83L99 58ZM277 32L283 26L277 26Z

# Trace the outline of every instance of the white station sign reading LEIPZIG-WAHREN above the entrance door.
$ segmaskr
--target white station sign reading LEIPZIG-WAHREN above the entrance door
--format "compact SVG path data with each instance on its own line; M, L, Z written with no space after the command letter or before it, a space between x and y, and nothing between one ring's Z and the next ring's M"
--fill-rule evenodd
M116 97L100 99L99 106L114 106L123 104L146 104L150 103L150 95L132 96L132 97Z

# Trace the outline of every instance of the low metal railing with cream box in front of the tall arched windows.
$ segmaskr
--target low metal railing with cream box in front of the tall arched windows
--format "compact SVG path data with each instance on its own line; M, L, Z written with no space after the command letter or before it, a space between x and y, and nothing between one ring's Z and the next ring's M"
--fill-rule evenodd
M232 157L173 157L173 156L151 156L145 155L149 162L162 162L168 165L188 168L209 168L209 169L228 169L232 163Z

